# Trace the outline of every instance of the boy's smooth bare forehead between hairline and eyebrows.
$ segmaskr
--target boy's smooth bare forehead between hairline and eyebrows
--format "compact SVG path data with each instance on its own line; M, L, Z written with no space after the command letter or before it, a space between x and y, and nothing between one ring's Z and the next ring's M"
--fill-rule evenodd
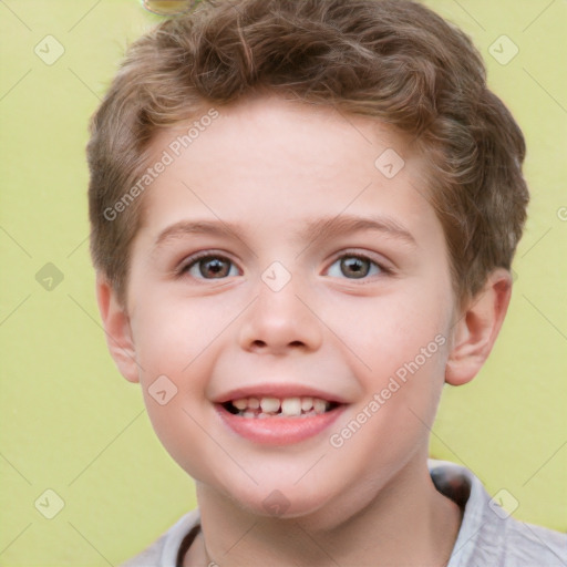
M144 196L154 231L186 215L280 229L346 212L435 221L423 158L377 120L279 96L208 111L152 142L153 159L168 156Z

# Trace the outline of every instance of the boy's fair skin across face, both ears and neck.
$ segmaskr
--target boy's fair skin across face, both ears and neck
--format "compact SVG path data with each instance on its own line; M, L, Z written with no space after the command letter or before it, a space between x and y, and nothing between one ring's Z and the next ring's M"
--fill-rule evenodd
M508 272L495 270L457 307L426 163L384 125L277 96L219 112L144 194L125 305L97 280L111 353L141 383L158 437L196 481L203 532L184 565L446 565L461 511L432 484L429 431L443 384L468 382L488 355ZM155 155L179 132L162 132ZM386 148L405 161L391 179L374 165ZM305 231L321 219L369 217L410 238ZM238 229L182 231L156 245L182 221ZM202 276L193 257L207 250L233 262L221 264L227 277ZM341 269L353 252L369 258L359 266L368 276ZM279 291L261 278L274 261L291 277ZM435 337L444 344L332 446L330 435ZM159 375L177 388L165 405L148 392ZM348 405L315 437L258 445L229 430L213 401L267 382L305 383ZM285 496L284 514L265 509L274 491Z

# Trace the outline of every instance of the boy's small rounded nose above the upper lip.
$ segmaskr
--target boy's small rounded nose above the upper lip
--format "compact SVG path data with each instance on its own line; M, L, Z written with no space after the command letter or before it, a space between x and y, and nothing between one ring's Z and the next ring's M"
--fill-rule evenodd
M297 297L291 282L272 291L260 281L258 297L246 311L239 341L240 348L257 353L316 351L322 342L321 321Z

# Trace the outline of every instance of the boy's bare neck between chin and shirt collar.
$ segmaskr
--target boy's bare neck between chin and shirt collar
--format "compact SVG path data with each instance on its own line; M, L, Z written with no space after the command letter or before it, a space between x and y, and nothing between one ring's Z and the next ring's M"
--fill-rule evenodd
M424 463L409 463L360 506L361 495L368 498L372 492L367 482L313 514L278 518L245 511L199 483L202 534L184 565L442 567L449 563L461 511L435 489ZM359 504L355 511L353 503Z

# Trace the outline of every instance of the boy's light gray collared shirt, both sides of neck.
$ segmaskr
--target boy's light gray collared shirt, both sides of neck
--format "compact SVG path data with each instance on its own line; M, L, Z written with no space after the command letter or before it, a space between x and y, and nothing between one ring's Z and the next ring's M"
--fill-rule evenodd
M463 522L447 567L567 567L567 535L513 518L514 496L494 498L463 466L429 461L431 477L442 494L463 509ZM154 544L122 567L176 567L185 536L199 524L198 511L183 516Z

